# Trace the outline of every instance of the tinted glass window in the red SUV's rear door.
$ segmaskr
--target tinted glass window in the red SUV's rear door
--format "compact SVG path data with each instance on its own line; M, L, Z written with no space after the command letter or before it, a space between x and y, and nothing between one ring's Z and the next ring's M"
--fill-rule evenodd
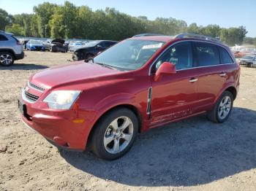
M204 42L193 43L193 63L195 66L213 66L220 63L219 51L214 44Z

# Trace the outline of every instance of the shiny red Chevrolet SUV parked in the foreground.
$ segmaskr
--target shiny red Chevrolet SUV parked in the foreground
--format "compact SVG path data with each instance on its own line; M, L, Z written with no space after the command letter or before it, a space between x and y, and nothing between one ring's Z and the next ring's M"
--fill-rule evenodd
M208 36L138 36L89 61L39 71L19 100L26 125L67 149L113 160L138 132L206 113L230 115L240 68Z

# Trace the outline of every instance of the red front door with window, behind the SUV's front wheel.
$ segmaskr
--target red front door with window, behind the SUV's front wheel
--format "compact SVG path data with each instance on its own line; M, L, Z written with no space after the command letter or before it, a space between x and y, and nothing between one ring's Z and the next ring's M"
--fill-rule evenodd
M157 71L164 62L176 65L176 74L164 74L159 81L152 77L151 125L175 120L193 113L197 99L197 74L192 69L192 45L179 42L173 45L152 67Z

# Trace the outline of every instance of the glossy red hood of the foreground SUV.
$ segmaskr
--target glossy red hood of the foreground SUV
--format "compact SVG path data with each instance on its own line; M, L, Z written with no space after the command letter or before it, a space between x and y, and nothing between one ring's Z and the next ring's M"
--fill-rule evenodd
M46 89L68 85L79 85L111 78L122 71L109 69L97 63L78 61L69 65L56 66L37 72L29 78L34 85Z

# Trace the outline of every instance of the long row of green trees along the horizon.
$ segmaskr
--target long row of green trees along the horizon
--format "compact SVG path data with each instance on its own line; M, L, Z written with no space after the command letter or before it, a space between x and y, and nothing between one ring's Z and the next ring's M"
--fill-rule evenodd
M218 25L197 26L196 23L188 26L184 20L172 17L148 20L145 16L132 17L113 8L93 12L87 6L77 7L69 1L63 5L45 2L33 10L33 14L9 15L0 9L0 30L15 36L112 40L143 33L175 35L189 32L219 38L229 45L241 44L247 33L244 26L221 28Z

